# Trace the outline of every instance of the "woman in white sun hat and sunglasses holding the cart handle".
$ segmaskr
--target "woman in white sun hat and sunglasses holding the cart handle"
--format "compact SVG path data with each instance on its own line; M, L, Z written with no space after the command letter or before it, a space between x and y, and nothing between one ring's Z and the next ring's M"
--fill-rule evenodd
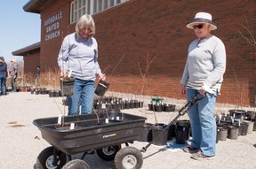
M188 100L196 93L205 97L188 111L193 141L184 151L197 160L210 159L216 154L214 108L226 70L226 50L223 42L211 34L217 26L210 13L196 13L186 27L193 29L197 38L188 47L180 92L187 93Z

